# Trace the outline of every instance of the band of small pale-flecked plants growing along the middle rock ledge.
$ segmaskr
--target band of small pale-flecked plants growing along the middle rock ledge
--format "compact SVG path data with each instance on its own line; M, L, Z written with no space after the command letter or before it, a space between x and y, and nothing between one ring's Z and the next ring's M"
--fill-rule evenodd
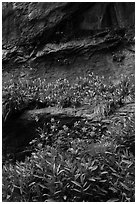
M104 77L89 74L79 77L71 84L67 79L46 83L45 79L3 84L3 118L25 108L34 109L48 106L79 107L85 104L103 107L108 115L125 102L134 101L134 77L121 75L118 84L108 82Z

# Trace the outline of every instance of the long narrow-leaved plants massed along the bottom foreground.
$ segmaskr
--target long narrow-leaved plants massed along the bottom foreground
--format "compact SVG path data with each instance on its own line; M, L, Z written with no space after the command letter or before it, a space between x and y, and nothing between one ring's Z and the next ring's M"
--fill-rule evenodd
M91 150L91 149L90 149ZM86 153L86 152L85 152ZM6 201L117 201L134 200L134 157L105 150L91 157L59 153L46 146L25 163L3 166Z

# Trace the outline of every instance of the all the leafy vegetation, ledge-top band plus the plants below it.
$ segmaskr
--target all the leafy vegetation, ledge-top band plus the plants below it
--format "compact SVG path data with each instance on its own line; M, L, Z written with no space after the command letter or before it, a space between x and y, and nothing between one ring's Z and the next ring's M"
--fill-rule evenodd
M45 121L30 142L31 156L3 164L3 201L133 202L135 116L110 117L129 102L134 102L133 76L122 75L117 84L93 74L74 84L66 79L4 84L4 122L25 108L87 104L99 119Z

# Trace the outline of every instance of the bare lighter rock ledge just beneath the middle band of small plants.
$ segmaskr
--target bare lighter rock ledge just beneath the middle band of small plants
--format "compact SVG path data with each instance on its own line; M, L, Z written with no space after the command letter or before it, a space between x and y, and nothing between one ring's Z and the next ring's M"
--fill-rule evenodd
M135 104L127 103L123 107L116 110L117 113L134 113L135 112ZM47 107L41 109L27 110L21 116L20 120L28 120L28 121L38 121L40 118L84 118L91 121L96 121L99 118L101 119L101 112L99 114L98 111L94 110L92 106L85 105L79 108L58 108L58 107Z

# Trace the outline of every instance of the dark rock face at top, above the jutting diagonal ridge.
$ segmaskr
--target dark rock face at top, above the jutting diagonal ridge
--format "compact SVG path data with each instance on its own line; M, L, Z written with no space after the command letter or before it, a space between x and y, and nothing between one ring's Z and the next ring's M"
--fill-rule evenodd
M134 25L134 3L5 2L2 4L3 46L31 50L78 33Z

